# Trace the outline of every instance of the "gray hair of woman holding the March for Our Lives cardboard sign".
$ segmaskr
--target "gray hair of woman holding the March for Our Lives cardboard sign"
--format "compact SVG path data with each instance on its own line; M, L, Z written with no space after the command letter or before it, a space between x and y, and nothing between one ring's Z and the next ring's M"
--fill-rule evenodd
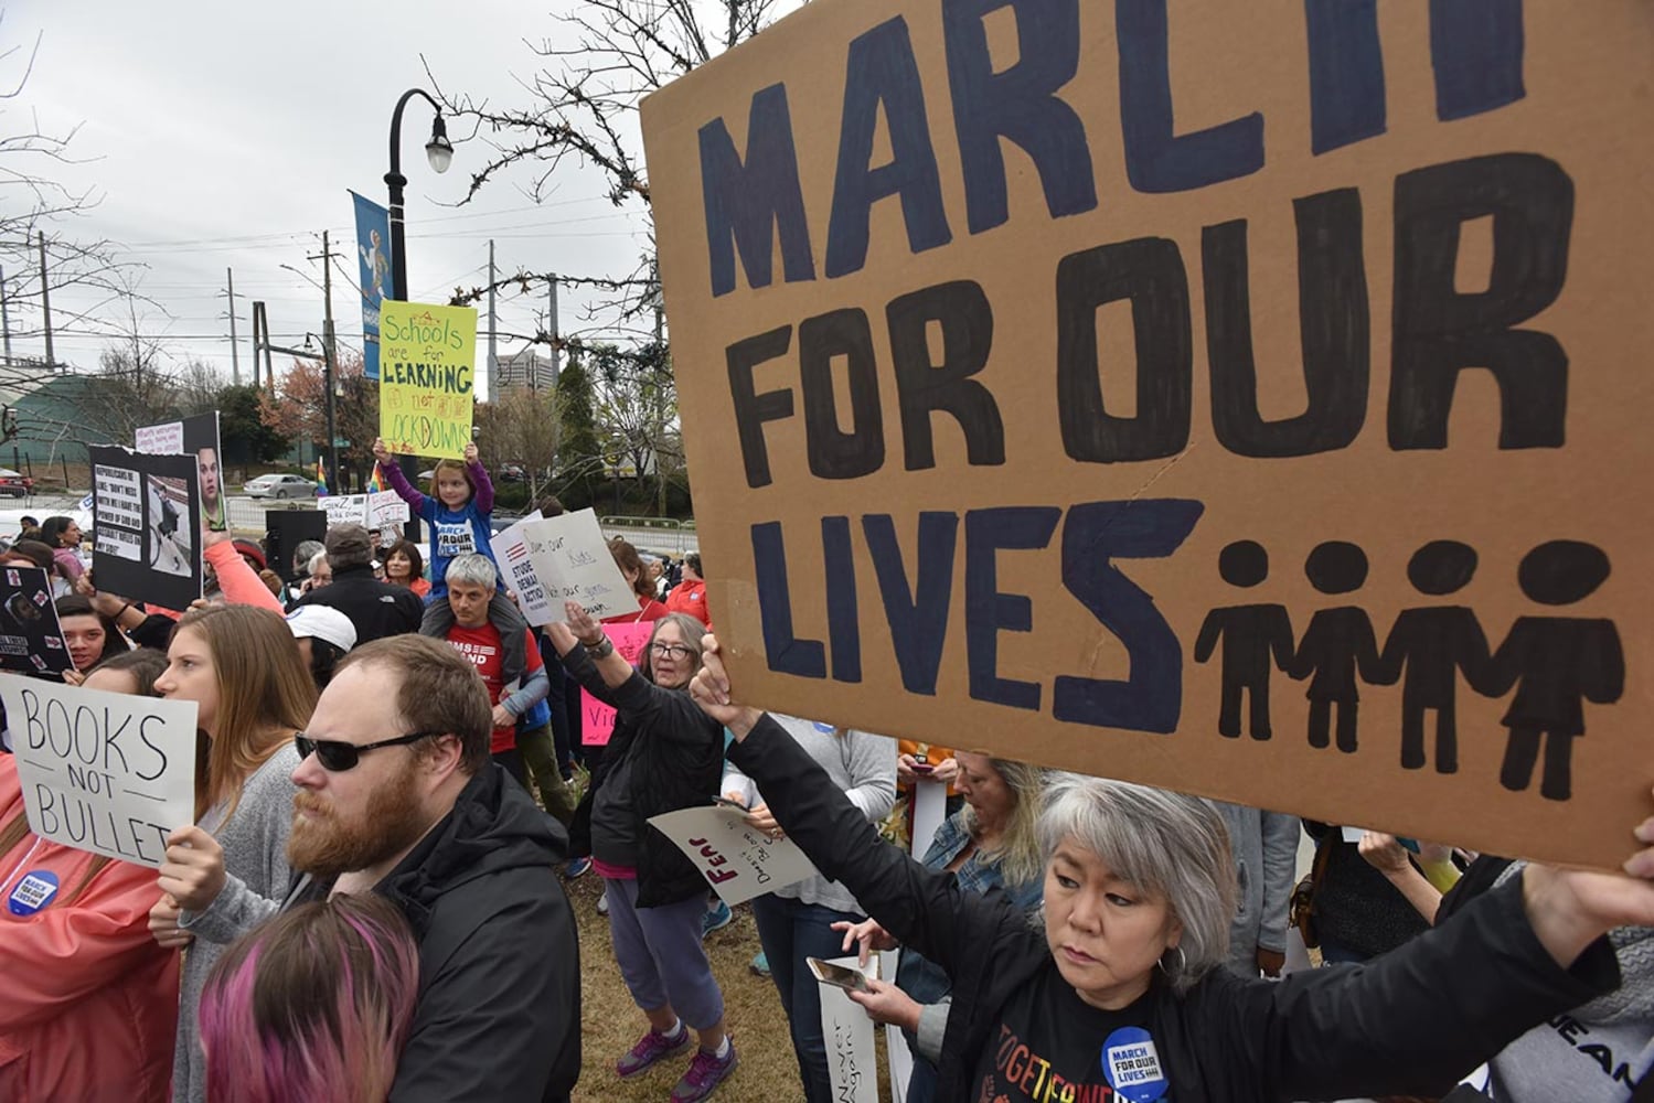
M1211 802L1123 781L1054 774L1039 819L1045 860L1064 840L1138 891L1168 903L1183 924L1161 967L1179 996L1229 957L1236 868L1229 828Z

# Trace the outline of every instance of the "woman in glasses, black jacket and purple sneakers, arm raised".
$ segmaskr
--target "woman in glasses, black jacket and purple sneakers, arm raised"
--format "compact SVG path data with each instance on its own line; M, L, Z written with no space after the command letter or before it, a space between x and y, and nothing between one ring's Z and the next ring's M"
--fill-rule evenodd
M615 1072L632 1077L683 1053L693 1030L700 1045L672 1100L705 1100L736 1065L723 992L701 949L706 880L648 819L718 794L723 726L686 693L706 628L683 614L662 617L632 670L586 610L574 602L566 610L567 625L546 628L551 643L569 673L615 709L609 749L569 827L572 853L589 853L604 878L615 959L648 1019Z

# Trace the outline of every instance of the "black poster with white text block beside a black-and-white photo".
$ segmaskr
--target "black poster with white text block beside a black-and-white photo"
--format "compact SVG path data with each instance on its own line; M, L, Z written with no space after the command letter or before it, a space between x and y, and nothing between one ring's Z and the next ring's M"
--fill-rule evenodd
M89 450L93 577L132 602L189 609L202 595L202 513L192 455Z

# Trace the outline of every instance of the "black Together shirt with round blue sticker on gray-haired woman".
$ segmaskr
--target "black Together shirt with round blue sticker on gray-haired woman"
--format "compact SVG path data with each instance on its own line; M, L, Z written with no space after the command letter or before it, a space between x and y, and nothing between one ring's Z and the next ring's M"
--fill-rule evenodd
M1148 1007L1092 1007L1055 966L1042 969L1006 1002L969 1103L1173 1103Z

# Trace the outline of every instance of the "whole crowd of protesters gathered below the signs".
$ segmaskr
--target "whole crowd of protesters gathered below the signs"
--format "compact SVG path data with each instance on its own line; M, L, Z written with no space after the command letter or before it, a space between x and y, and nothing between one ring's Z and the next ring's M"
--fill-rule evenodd
M799 1098L827 1103L807 961L898 948L850 997L901 1027L915 1103L1654 1091L1654 817L1628 825L1623 875L1556 870L1047 771L968 733L767 714L724 671L698 556L612 542L637 610L609 620L650 625L633 666L577 604L528 625L475 445L430 493L384 470L423 549L341 524L286 585L205 531L189 610L99 590L71 518L0 554L53 579L65 681L194 701L200 729L195 822L159 875L33 835L0 756L0 891L51 886L0 913L0 1098L557 1101L582 1058L675 1062L673 1103L756 1098L739 1027L791 1045ZM581 690L615 709L605 747L582 746ZM923 785L946 819L890 842ZM753 901L786 1027L729 1022L706 878L648 822L715 799L819 871ZM581 1048L564 880L589 868L595 966L642 1015L622 1053ZM1322 967L1288 971L1293 941ZM1159 1093L1120 1090L1110 1047Z

